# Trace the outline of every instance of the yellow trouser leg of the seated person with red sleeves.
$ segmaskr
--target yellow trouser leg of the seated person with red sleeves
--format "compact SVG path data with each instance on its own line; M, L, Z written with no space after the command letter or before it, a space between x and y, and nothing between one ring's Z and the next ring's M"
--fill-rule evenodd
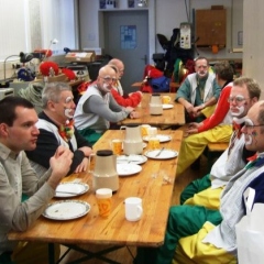
M179 151L177 175L182 174L202 154L208 143L229 142L231 134L232 125L221 124L211 130L185 138Z

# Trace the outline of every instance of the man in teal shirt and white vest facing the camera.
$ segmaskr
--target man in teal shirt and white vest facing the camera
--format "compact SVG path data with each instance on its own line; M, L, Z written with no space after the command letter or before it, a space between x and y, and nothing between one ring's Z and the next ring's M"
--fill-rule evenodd
M196 73L188 75L180 85L175 99L185 107L187 122L201 121L201 110L215 106L221 92L216 75L209 73L207 58L198 57L195 61L195 69ZM210 112L210 109L207 111Z

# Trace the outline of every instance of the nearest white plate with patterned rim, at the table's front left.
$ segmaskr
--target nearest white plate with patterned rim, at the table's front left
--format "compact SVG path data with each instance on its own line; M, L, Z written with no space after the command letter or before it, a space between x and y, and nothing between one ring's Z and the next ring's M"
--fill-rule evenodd
M50 204L42 213L53 220L72 220L84 217L90 210L90 205L80 200L63 200Z

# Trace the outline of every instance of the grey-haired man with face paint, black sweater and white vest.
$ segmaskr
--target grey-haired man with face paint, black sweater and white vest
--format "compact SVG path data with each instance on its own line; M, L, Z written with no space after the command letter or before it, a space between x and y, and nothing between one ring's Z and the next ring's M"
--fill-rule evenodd
M50 158L59 145L74 154L68 174L85 172L91 144L74 127L75 102L72 88L66 82L47 82L42 92L43 111L36 123L40 135L36 147L26 152L32 167L42 176L50 167Z

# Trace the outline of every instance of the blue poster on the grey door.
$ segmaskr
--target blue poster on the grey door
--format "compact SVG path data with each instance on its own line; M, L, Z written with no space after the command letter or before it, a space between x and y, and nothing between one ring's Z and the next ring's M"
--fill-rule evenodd
M136 47L136 25L121 25L120 40L122 50L133 50Z

